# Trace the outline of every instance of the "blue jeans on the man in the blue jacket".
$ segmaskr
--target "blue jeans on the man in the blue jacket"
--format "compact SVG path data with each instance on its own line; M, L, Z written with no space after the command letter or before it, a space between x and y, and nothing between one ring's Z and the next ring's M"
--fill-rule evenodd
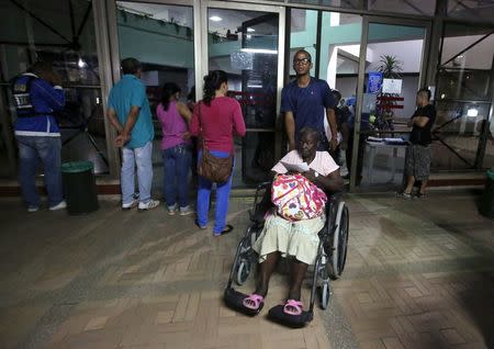
M19 181L22 195L31 207L40 205L36 190L36 171L40 160L43 162L48 205L59 204L63 198L60 172L60 137L15 136L19 144Z

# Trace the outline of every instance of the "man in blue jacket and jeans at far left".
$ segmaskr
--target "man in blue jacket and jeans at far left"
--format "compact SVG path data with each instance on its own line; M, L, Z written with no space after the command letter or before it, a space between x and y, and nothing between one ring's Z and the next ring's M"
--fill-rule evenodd
M45 185L50 211L67 206L61 190L60 132L54 112L65 106L61 78L48 63L38 61L14 79L12 95L18 120L14 134L19 145L22 195L27 212L40 209L36 191L36 171L43 162Z

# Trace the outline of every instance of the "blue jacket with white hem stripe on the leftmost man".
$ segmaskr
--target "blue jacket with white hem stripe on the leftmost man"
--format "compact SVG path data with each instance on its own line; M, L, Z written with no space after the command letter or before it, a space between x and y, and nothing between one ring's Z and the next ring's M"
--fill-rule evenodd
M32 77L35 79L31 83L30 97L36 115L19 117L21 113L18 113L14 133L18 136L59 136L60 132L53 112L64 110L64 90L31 72L21 75L14 83L23 83Z

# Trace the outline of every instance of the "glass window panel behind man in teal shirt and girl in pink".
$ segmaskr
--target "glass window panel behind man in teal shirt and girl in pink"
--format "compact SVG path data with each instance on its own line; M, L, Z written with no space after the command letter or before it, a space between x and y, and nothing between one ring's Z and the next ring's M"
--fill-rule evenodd
M120 58L134 57L142 63L141 79L146 86L155 140L154 167L162 166L161 125L156 106L161 100L161 88L175 82L181 89L182 102L195 101L195 70L192 7L116 1ZM162 188L162 171L155 171L155 188Z

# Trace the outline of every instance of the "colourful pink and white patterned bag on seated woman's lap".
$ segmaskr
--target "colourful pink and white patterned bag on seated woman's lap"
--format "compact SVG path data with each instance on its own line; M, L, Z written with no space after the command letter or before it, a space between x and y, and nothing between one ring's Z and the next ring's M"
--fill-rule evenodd
M321 216L327 196L302 174L279 174L272 183L271 201L283 218L302 221Z

